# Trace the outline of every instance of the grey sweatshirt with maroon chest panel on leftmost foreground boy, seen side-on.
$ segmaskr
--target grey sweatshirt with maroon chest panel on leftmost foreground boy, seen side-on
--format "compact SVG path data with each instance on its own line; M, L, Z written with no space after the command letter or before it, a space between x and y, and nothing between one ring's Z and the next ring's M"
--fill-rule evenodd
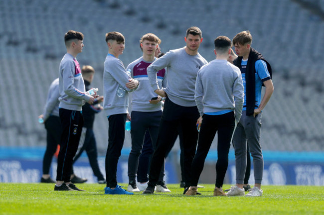
M71 54L65 54L59 71L59 108L81 111L90 95L85 93L79 62Z

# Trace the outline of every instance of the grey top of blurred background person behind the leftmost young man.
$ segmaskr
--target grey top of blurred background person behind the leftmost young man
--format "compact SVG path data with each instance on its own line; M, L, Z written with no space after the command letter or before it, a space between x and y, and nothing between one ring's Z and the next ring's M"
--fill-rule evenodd
M46 121L50 115L59 116L58 105L60 101L58 101L58 98L60 97L60 91L58 88L59 84L57 78L51 83L48 89L47 100L43 112L44 121Z

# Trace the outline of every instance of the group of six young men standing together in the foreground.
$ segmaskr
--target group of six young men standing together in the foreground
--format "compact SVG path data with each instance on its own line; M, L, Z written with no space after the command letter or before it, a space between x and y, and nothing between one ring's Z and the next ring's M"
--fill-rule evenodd
M76 60L76 55L82 52L83 34L70 30L64 38L67 54L61 61L59 74L59 116L63 132L54 188L58 191L80 190L70 182L71 166L83 125L81 107L85 102L91 105L95 101L85 91ZM161 40L155 34L145 34L140 40L143 56L126 69L119 60L125 48L124 36L119 32L106 34L109 52L104 63L103 108L109 122L109 139L105 194L132 195L140 192L136 173L146 132L151 136L154 153L149 182L143 194L170 192L163 181L164 161L177 135L182 139L183 194L199 194L197 183L218 131L213 195L245 195L243 180L247 145L253 157L255 186L246 196L262 195L260 128L262 109L274 90L270 64L251 47L249 31L237 34L233 43L226 36L217 37L214 40L216 59L209 63L198 53L202 40L201 30L190 27L184 37L185 47L170 50L157 58L155 54ZM235 60L231 55L232 44L238 55ZM229 62L231 59L234 65ZM263 98L262 85L266 88ZM131 92L130 115L128 94ZM117 164L124 144L127 118L131 120L132 149L126 191L117 183ZM235 149L236 186L225 193L222 186L231 140Z

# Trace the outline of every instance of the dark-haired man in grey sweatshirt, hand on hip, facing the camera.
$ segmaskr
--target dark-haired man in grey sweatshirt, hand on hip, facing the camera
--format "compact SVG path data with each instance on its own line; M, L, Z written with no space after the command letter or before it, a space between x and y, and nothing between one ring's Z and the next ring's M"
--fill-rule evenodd
M198 27L190 27L184 37L186 46L170 50L154 61L147 69L153 91L161 97L166 97L159 128L157 149L155 150L151 167L149 186L144 194L153 194L159 181L159 174L167 150L175 141L178 126L181 127L184 148L184 180L191 180L191 163L195 155L198 131L196 121L199 112L194 101L194 86L198 70L207 61L198 53L202 42L202 33ZM157 72L166 68L167 87L160 89ZM185 190L188 186L185 186Z

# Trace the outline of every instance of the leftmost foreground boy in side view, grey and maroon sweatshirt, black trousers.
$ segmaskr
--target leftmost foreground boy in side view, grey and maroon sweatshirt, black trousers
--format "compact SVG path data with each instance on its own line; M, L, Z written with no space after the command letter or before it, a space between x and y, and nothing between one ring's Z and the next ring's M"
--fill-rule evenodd
M64 35L64 41L67 53L61 61L59 70L59 115L62 135L54 190L82 191L71 183L71 167L83 126L82 106L85 102L92 105L95 98L85 92L80 65L76 60L77 54L82 52L84 46L83 34L69 30Z

